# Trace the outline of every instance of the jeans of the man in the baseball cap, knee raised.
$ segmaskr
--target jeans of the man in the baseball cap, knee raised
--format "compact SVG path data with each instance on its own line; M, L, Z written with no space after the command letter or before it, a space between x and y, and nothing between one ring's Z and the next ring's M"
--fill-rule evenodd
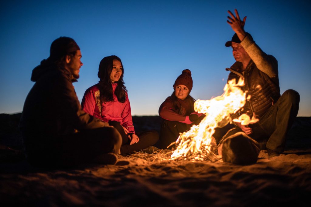
M249 125L253 133L248 136L259 143L261 150L268 148L277 152L284 151L286 134L298 114L299 101L298 92L287 90L259 119L259 122ZM241 131L235 126L222 137L219 144L230 135Z

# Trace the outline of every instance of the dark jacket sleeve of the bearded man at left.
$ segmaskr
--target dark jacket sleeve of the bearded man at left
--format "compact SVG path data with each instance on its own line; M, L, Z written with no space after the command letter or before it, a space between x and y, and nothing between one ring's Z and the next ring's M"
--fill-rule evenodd
M109 126L108 123L102 122L100 119L89 115L81 109L80 102L73 88L71 80L64 74L56 84L55 91L59 92L61 103L59 110L61 110L63 117L67 119L67 123L71 124L77 130L100 128Z

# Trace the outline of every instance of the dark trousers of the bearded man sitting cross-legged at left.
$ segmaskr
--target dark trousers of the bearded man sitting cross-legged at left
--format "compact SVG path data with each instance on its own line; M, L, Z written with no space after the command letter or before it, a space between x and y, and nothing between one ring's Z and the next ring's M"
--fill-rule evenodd
M61 137L23 133L27 159L38 167L71 167L90 163L99 155L117 153L121 137L112 127L89 129Z

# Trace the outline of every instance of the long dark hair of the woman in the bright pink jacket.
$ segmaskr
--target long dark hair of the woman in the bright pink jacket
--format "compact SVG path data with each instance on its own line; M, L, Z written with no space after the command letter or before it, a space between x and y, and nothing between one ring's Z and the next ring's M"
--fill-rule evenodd
M108 57L104 57L99 64L98 67L98 78L100 78L100 102L107 102L107 101L114 101L112 85L110 80L110 74L113 67L113 61L118 60L121 62L122 65L122 74L120 79L115 82L118 83L117 88L114 91L119 102L124 103L126 100L126 92L128 91L124 85L123 76L124 76L124 69L121 59L118 56L112 55Z

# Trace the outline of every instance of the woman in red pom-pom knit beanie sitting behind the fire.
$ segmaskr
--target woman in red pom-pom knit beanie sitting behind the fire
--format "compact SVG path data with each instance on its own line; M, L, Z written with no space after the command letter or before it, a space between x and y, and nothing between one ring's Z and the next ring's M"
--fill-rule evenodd
M188 131L193 124L198 124L199 117L194 111L194 98L190 96L193 81L191 71L183 70L173 85L174 92L161 104L159 115L163 118L158 146L166 149L175 142L179 133Z

